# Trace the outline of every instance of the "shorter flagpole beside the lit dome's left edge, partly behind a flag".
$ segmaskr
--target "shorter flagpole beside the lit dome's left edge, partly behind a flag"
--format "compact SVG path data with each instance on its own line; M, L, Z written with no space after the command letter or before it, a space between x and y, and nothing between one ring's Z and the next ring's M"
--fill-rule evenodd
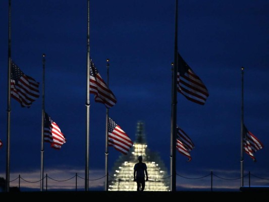
M107 87L109 87L109 59L106 59L106 73L107 73ZM106 108L105 116L105 191L109 190L109 134L108 127L109 125L109 109Z

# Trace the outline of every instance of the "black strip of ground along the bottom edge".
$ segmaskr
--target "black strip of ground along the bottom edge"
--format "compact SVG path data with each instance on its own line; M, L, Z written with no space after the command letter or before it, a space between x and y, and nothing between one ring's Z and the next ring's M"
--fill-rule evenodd
M223 191L27 191L27 192L1 192L0 198L6 201L13 201L19 199L23 201L39 201L39 200L52 200L60 199L61 201L67 199L75 199L86 201L224 201L231 200L240 201L269 201L269 192L262 191L236 191L236 192L223 192Z

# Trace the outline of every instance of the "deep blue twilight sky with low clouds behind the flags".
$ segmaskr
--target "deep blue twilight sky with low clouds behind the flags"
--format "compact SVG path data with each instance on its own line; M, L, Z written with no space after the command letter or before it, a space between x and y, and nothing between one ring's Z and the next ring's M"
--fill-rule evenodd
M0 3L0 139L4 143L0 177L6 177L8 2ZM177 174L200 178L213 171L225 179L240 178L244 67L244 123L264 145L255 153L257 162L244 155L244 170L269 179L269 2L179 0L178 4L178 49L206 85L209 97L200 106L177 94L177 124L195 144L191 162L176 153ZM57 180L76 173L84 177L87 1L12 1L11 7L12 59L42 84L42 54L46 54L45 111L67 138L61 150L44 144L44 173ZM174 35L175 1L90 2L90 57L105 81L106 59L110 59L109 85L118 100L110 117L133 140L137 121L144 121L148 148L160 155L168 171ZM18 186L19 175L31 182L40 179L41 109L41 97L29 109L11 99L11 186ZM95 103L92 94L89 146L90 179L98 179L105 175L105 107ZM109 148L110 172L119 156L119 151ZM219 188L240 187L240 180L215 180ZM84 181L79 183L83 189ZM89 187L103 190L103 183L104 178L93 180ZM269 181L253 177L252 183ZM51 184L51 189L74 189L74 182ZM177 190L203 187L210 188L210 179L196 183L177 177Z

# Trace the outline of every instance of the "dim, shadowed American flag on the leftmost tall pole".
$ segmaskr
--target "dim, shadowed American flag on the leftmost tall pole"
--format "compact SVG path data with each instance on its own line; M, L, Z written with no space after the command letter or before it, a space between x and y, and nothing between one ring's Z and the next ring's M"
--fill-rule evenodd
M39 97L39 82L24 74L20 68L11 61L11 97L15 98L22 107L31 107L34 100Z

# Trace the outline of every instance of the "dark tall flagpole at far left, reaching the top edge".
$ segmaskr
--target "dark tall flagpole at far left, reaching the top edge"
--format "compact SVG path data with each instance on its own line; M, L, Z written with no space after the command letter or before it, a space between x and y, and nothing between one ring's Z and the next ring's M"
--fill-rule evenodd
M11 113L11 0L9 0L9 42L8 42L8 106L7 106L7 159L6 159L6 192L10 188L10 113Z

